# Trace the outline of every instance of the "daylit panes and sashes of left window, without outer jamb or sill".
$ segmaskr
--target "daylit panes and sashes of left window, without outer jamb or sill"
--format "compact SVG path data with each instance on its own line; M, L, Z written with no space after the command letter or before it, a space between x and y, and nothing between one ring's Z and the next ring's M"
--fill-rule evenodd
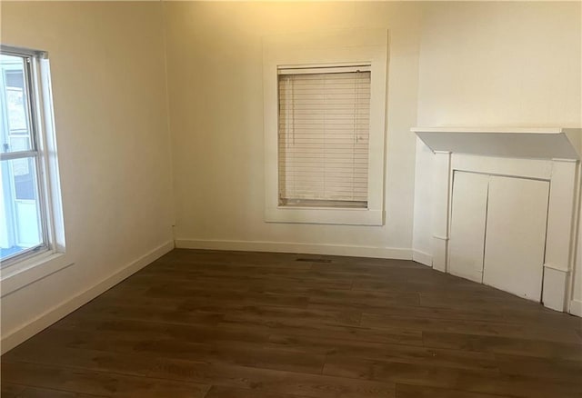
M35 54L0 55L0 261L47 246Z

